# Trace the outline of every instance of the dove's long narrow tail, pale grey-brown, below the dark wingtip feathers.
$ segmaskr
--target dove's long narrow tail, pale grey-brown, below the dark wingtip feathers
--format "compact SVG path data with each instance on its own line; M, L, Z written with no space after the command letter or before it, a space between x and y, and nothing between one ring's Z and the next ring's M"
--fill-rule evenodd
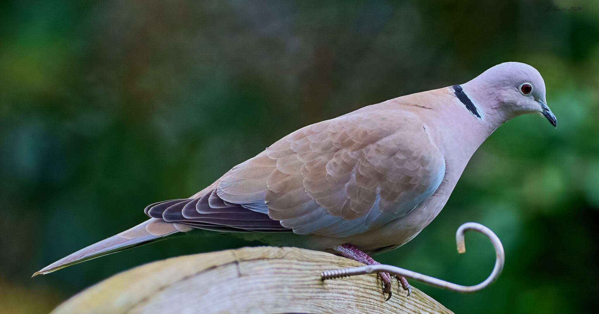
M168 236L179 231L189 231L191 228L186 225L176 224L174 222L167 222L161 219L152 218L135 227L123 231L116 236L111 236L108 239L102 240L93 245L87 246L87 248L80 249L73 254L58 260L49 266L44 267L39 272L34 273L35 275L47 274L59 270L66 266L81 263L83 261L91 260L92 258L101 257L114 252L123 251L123 249L133 248L149 242L164 239Z

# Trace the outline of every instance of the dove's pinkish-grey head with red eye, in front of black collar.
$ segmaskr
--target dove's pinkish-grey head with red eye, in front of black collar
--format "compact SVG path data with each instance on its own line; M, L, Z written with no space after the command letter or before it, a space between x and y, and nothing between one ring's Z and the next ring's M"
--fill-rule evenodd
M545 100L545 83L537 69L520 62L496 65L462 85L482 111L509 120L521 114L539 114L557 126Z

